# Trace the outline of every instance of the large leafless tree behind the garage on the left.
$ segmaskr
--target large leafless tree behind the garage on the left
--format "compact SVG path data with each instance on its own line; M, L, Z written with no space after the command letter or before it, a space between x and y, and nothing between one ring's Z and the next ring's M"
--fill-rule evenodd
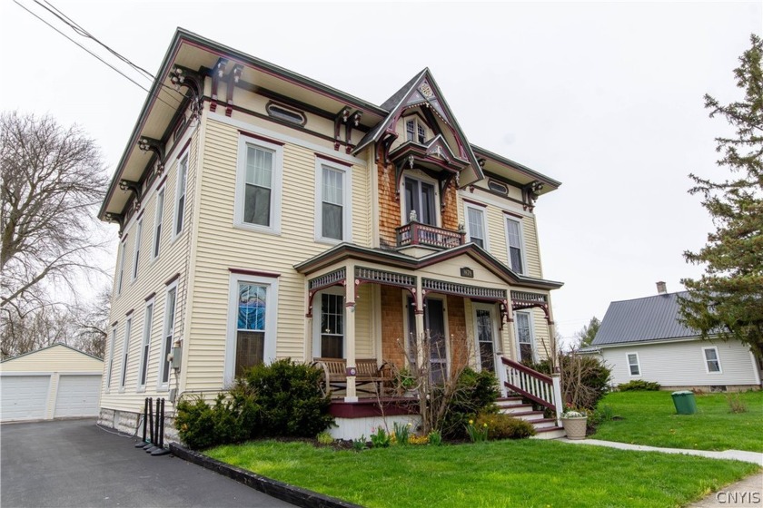
M75 295L77 283L95 270L91 257L102 242L94 207L104 198L107 178L100 151L79 127L18 112L0 114L0 173L5 355L28 342L28 335L17 335L22 330L37 329L37 343L45 343L53 330L39 327L64 312L51 306L67 303L54 295L67 293L62 285Z

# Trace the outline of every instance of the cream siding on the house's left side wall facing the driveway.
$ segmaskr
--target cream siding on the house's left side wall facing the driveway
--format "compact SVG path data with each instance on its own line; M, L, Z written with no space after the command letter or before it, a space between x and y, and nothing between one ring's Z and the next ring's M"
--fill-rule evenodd
M191 139L188 148L186 142ZM117 294L114 287L110 325L116 323L116 336L113 327L109 327L104 358L104 380L102 384L101 407L139 412L143 410L144 398L147 396L168 396L168 389L177 385L173 373L170 373L169 386L159 389L160 360L163 360L164 307L166 303L166 285L169 279L177 277L177 301L175 305L174 334L179 338L182 334L183 319L187 316L184 308L184 288L187 278L188 253L193 239L189 238L193 224L193 189L195 185L196 150L198 131L192 127L182 139L174 143L173 150L168 153L163 175L157 178L151 188L146 190L141 210L124 227L124 279L122 291ZM183 149L183 150L181 150ZM180 162L188 155L187 186L185 204L183 207L183 230L174 235L177 176ZM154 225L158 190L164 190L162 234L159 255L153 256ZM143 220L141 249L138 264L138 274L133 280L133 262L137 236L137 221ZM121 259L117 260L117 267ZM116 282L115 282L116 284ZM150 347L146 383L144 389L138 388L138 376L141 365L142 346L144 339L144 318L146 298L154 295L154 313L151 323ZM132 317L129 349L127 354L127 369L124 389L121 389L121 372L123 364L124 328L128 318ZM114 348L114 363L111 372L111 386L107 386L106 376L109 370L111 348Z

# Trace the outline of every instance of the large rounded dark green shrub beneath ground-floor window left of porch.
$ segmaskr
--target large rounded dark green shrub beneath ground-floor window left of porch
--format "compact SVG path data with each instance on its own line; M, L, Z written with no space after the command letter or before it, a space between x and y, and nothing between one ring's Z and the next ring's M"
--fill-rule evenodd
M331 399L319 387L322 376L291 358L250 368L242 384L262 410L262 435L313 437L333 425Z

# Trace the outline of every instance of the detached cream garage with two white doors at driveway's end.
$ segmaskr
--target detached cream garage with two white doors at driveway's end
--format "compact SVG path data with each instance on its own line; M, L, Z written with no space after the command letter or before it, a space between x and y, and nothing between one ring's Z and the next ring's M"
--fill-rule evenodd
M104 361L54 344L0 363L0 420L97 416Z

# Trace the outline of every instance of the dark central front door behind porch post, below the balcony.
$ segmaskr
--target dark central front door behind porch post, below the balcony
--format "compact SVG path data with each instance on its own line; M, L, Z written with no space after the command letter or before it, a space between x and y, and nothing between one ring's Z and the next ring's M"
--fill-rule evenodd
M448 348L445 341L445 304L442 300L436 298L424 299L424 328L429 336L431 382L441 383L448 376ZM418 345L421 337L416 330L412 298L408 298L408 329L411 332L411 357L415 359L417 356L414 347Z

